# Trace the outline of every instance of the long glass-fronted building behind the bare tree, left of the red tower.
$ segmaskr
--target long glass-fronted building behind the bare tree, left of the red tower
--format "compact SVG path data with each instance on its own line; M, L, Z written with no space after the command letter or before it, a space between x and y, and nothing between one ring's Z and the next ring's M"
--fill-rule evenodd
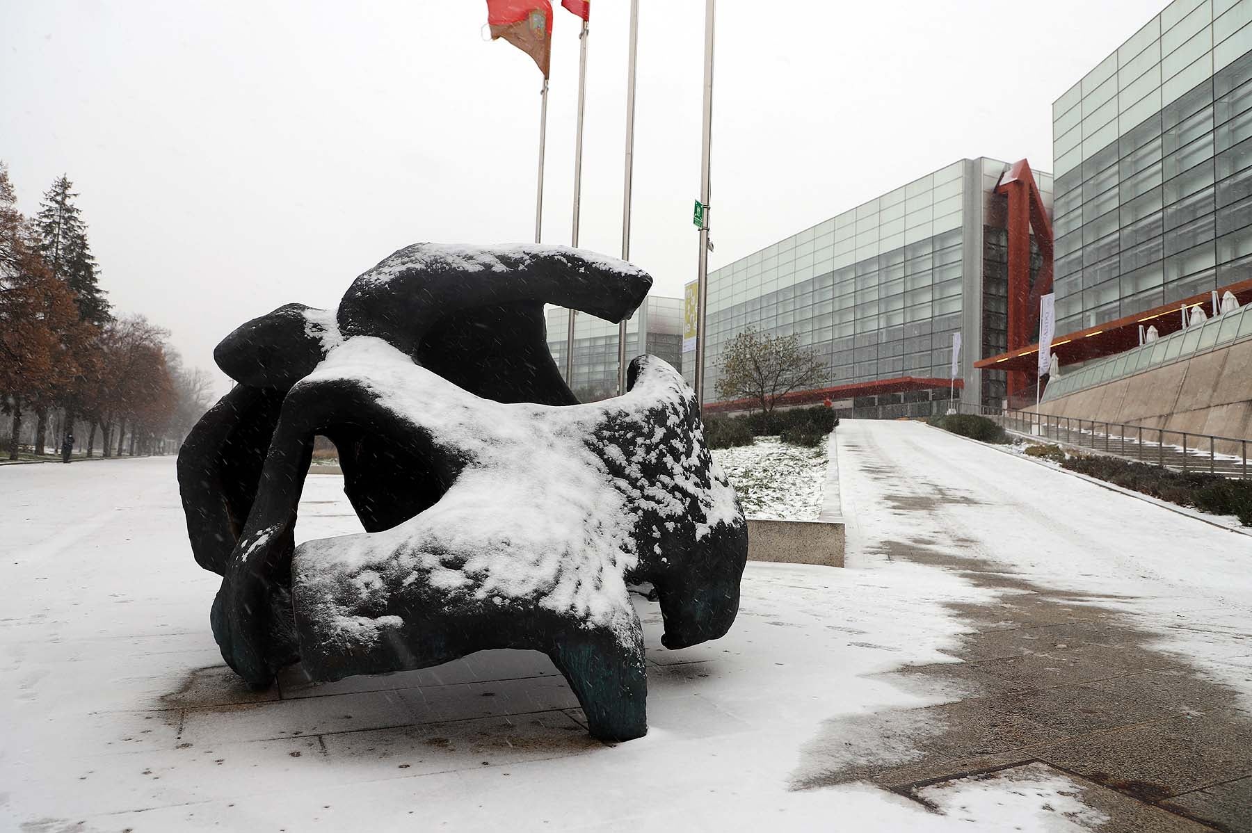
M705 401L721 399L720 350L749 325L798 334L828 368L818 389L947 380L960 333L965 399L1003 398L1004 374L972 363L1007 344L1005 198L993 193L1007 169L963 159L710 271ZM1035 181L1050 209L1052 176L1035 171ZM694 355L684 355L689 381ZM947 385L935 398L947 404ZM858 415L930 413L928 391L859 399L840 406ZM886 404L899 408L881 410Z

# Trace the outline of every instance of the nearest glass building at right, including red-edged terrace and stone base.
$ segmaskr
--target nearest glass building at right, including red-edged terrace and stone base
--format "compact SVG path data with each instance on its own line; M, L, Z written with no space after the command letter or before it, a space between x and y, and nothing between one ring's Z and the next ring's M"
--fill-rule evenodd
M1043 410L1252 437L1252 330L1219 315L1227 293L1252 301L1252 0L1166 6L1057 99L1053 156L1062 374ZM1209 323L1182 333L1197 308ZM1029 374L1010 405L1034 406L1037 341L980 363Z

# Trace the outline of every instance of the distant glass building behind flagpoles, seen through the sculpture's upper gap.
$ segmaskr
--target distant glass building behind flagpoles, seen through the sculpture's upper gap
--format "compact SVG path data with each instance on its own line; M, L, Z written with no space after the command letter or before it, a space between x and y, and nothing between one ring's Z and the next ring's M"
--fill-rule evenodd
M565 379L565 348L570 313L550 306L545 313L548 350ZM640 333L644 334L642 343ZM626 321L626 360L651 354L682 370L682 299L649 295ZM578 314L573 325L573 380L566 379L580 401L617 395L617 325Z

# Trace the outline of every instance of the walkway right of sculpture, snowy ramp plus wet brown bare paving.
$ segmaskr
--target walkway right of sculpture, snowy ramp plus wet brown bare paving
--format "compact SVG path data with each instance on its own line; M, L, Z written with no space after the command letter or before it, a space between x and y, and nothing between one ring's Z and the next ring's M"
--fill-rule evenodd
M997 600L949 605L968 627L952 662L884 674L939 704L831 722L831 740L866 733L881 745L800 788L870 780L920 798L1033 767L1087 784L1084 803L1111 819L1102 829L1252 830L1252 595L1246 578L1222 588L1218 564L1193 549L1213 538L1252 559L1252 545L920 424L848 422L840 440L863 510L849 524L849 567L939 567ZM1022 499L1049 485L1050 513ZM1073 504L1064 492L1078 492ZM1109 545L1103 527L1122 540ZM1168 562L1133 562L1152 535L1174 559L1161 583ZM1085 564L1069 584L1089 589L1049 580L1075 548Z

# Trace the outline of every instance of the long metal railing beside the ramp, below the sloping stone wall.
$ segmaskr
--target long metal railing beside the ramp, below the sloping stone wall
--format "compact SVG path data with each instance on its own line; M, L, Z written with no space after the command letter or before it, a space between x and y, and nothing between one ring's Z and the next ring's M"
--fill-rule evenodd
M962 405L963 413L977 413L999 423L1004 430L1050 440L1097 454L1224 478L1248 478L1247 439L1196 434L1166 428L1149 428L1099 419L1052 416L1029 410L1004 410L987 405Z

